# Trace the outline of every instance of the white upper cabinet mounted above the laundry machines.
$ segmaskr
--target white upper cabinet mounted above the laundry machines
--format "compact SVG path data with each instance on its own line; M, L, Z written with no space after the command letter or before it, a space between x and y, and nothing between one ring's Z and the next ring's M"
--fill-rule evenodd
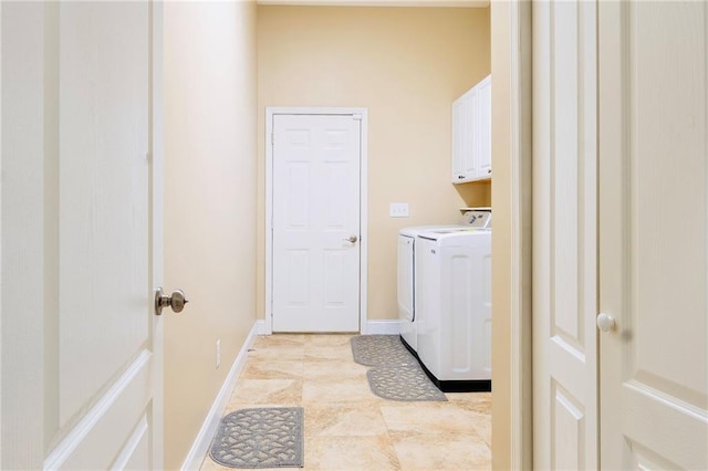
M491 178L491 75L452 103L452 182Z

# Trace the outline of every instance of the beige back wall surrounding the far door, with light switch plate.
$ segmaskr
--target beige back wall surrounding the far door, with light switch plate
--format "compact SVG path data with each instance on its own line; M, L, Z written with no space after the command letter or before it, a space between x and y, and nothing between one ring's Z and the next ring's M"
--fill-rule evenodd
M490 72L489 8L258 8L258 316L264 316L264 108L368 108L368 318L397 317L396 236L489 206L450 184L450 105ZM388 205L409 203L392 219Z

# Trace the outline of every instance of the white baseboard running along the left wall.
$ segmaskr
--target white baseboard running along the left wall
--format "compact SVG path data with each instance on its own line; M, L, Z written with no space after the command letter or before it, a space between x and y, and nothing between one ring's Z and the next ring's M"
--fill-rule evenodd
M241 350L236 356L233 360L233 365L231 365L231 369L227 375L219 394L217 395L214 404L211 405L211 409L209 409L209 414L204 420L204 425L195 439L195 442L185 459L185 462L181 465L183 470L198 470L201 467L201 462L204 457L206 457L207 451L209 451L209 446L211 444L211 439L214 438L217 429L219 428L219 421L221 420L221 415L223 414L223 409L226 409L227 404L229 402L229 398L231 397L231 393L233 393L233 388L236 387L236 381L239 378L239 375L243 370L243 366L246 365L246 357L248 356L248 350L253 345L253 341L256 336L259 335L258 332L258 323L253 324L251 332L248 334Z

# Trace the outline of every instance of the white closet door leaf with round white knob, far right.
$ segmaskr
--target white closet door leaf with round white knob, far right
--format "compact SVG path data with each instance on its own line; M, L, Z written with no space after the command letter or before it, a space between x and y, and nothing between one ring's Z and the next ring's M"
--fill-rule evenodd
M706 470L708 3L598 12L601 465Z

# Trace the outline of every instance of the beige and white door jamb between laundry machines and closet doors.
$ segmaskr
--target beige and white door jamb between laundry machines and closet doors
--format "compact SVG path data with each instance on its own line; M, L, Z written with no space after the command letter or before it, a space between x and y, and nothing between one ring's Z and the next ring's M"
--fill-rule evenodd
M532 469L531 2L491 2L492 468Z

